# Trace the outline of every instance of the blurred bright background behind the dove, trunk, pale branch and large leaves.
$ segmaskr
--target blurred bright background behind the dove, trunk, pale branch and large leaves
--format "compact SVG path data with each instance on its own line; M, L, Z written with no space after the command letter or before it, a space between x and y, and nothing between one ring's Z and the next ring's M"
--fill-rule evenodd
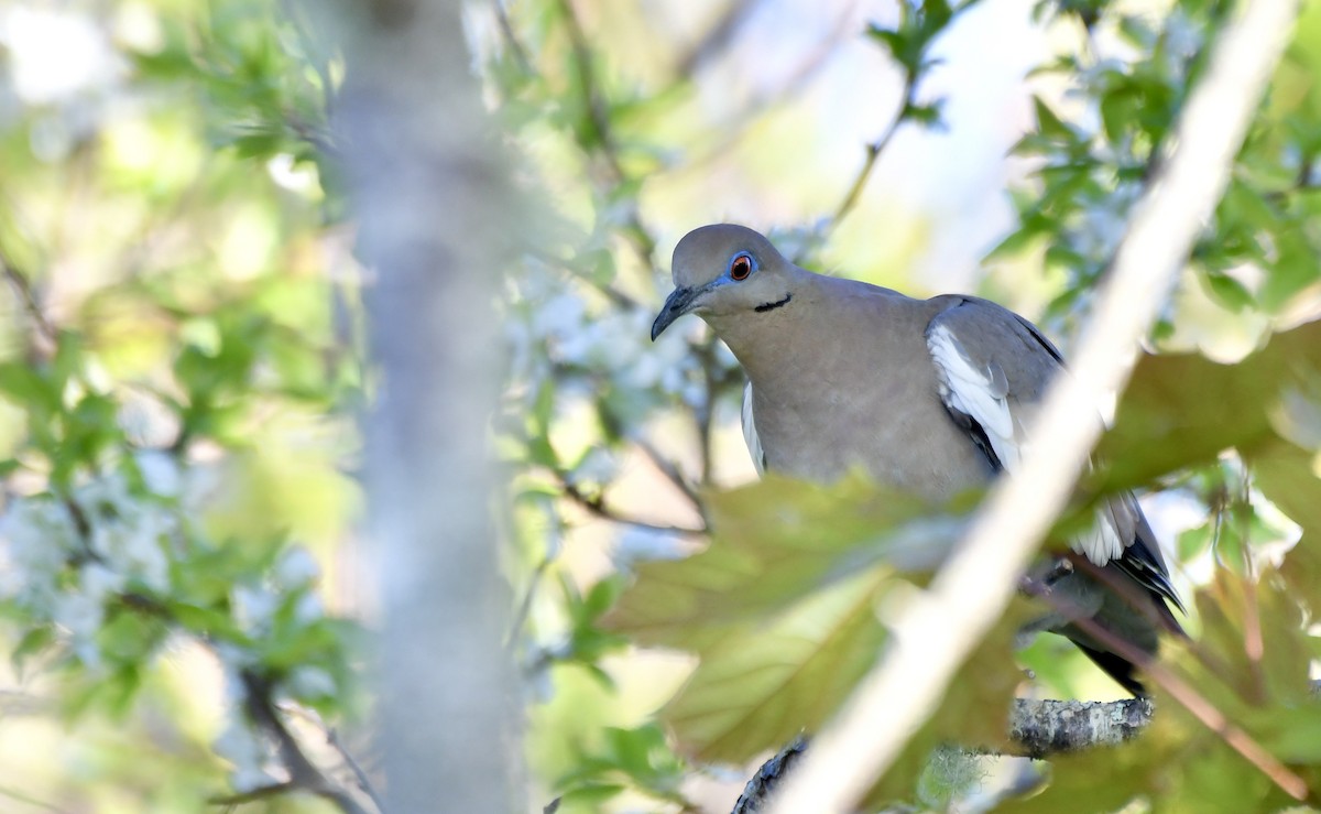
M745 223L808 268L988 296L1067 352L1232 5L454 4L540 213L506 225L515 267L481 270L528 810L728 810L758 762L694 757L655 712L695 658L602 622L756 480L728 350L699 320L649 341L678 239ZM371 805L376 270L339 25L296 0L0 0L0 810L351 810L289 782L285 736ZM1321 308L1316 3L1296 36L1152 350L1236 362ZM1280 429L1309 456L1314 385ZM1189 595L1305 526L1235 453L1147 485ZM1123 695L1048 640L1040 694Z

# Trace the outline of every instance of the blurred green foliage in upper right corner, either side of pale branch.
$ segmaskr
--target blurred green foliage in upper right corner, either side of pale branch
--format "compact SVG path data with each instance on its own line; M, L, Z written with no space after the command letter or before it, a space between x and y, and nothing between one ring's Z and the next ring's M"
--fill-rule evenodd
M1050 309L1062 317L1106 270L1124 218L1169 147L1172 127L1197 82L1214 32L1232 3L1174 4L1159 18L1104 15L1107 4L1061 4L1098 28L1112 29L1119 58L1065 54L1042 66L1077 83L1085 108L1036 98L1037 127L1016 152L1041 163L1038 184L1015 193L1020 227L996 252L1044 244L1049 267L1062 270L1066 289ZM1098 22L1100 20L1100 22ZM1192 270L1211 297L1231 311L1276 314L1299 292L1321 281L1313 168L1321 107L1314 96L1312 42L1318 25L1308 4L1295 45L1276 71L1269 98L1239 153L1230 186L1193 252ZM1074 100L1063 100L1067 108ZM1157 337L1169 333L1168 322Z

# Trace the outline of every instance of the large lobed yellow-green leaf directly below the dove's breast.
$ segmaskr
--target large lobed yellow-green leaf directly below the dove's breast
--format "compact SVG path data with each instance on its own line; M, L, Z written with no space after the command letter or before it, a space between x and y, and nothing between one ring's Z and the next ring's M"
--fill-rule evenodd
M643 566L606 617L641 644L699 655L660 718L680 748L704 761L748 760L824 723L880 655L878 605L900 601L902 591L889 599L898 585L915 589L897 574L921 579L962 527L962 515L860 476L834 486L769 477L709 496L708 510L708 548ZM970 671L939 725L923 729L910 748L915 766L942 739L1003 739L1021 678L1008 638L988 645L1001 669ZM985 703L988 692L995 703ZM913 772L892 774L901 785L884 794L911 790Z

